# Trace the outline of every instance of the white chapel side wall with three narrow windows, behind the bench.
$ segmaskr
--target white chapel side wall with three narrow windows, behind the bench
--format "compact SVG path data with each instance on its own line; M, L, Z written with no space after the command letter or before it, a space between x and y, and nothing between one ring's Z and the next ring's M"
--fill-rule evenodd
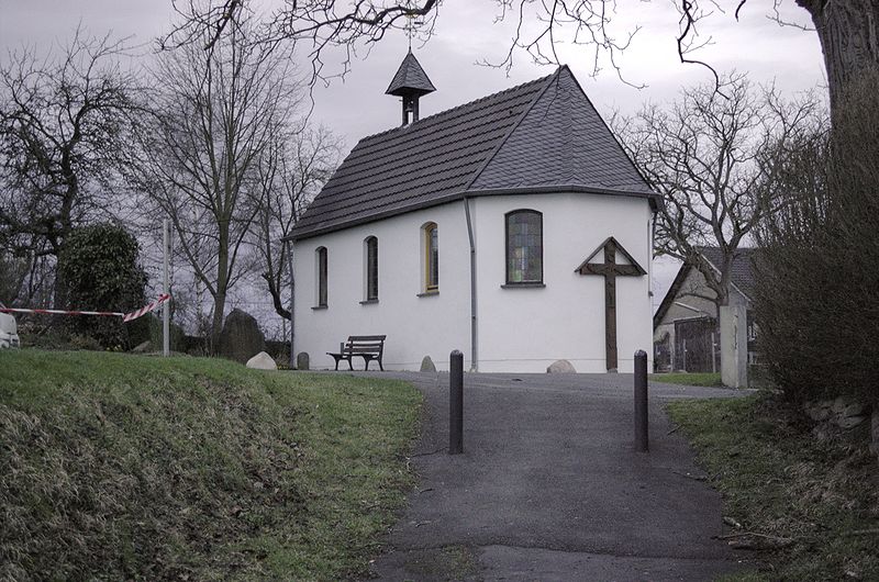
M439 292L423 292L422 226L438 228ZM378 237L379 301L364 296L364 240ZM327 309L316 305L315 250L327 248ZM307 351L313 369L333 368L326 351L338 351L349 335L388 336L386 369L418 370L431 356L437 369L448 369L448 354L470 349L470 266L467 226L460 202L415 211L294 245L297 352ZM354 359L363 369L363 359ZM370 369L378 369L372 362ZM347 369L342 362L340 369Z

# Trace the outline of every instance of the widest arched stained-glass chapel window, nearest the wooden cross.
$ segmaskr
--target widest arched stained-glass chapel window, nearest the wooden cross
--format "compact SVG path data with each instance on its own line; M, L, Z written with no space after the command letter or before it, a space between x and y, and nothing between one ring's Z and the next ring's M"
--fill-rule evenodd
M543 215L507 213L507 284L543 283Z

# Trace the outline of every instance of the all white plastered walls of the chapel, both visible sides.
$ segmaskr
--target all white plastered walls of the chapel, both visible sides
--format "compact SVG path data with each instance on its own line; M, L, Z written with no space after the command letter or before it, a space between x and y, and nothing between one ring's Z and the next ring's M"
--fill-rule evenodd
M650 262L648 202L597 194L492 195L471 199L477 246L479 371L544 372L567 359L579 372L604 372L604 280L575 269L609 236L645 269ZM504 215L519 209L543 214L544 283L539 289L502 289L505 282ZM422 292L422 226L435 222L439 240L439 293ZM379 240L379 302L363 305L367 236ZM315 249L329 250L327 309L315 305ZM296 243L297 351L314 369L333 367L348 335L387 334L386 369L418 370L430 355L448 369L459 349L470 361L469 242L463 202L354 226ZM622 257L619 257L620 260ZM596 260L603 260L600 253ZM620 260L623 262L622 260ZM616 279L619 370L631 372L633 354L653 358L649 278ZM363 360L354 360L363 368ZM374 362L371 368L377 368ZM342 363L342 368L347 368Z

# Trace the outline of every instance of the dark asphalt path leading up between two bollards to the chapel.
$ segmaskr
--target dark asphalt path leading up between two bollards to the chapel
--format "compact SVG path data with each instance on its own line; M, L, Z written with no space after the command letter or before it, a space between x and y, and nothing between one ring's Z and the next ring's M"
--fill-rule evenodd
M450 456L448 374L380 376L415 384L425 410L420 482L375 577L712 580L747 566L714 539L727 533L720 495L664 412L741 391L652 383L643 454L631 374L466 374L464 454Z

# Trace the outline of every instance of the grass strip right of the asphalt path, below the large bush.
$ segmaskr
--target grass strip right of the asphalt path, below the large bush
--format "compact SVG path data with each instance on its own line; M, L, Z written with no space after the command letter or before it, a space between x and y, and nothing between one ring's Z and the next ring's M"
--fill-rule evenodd
M816 440L766 394L668 411L741 523L735 541L764 550L765 570L731 580L879 580L879 467L866 446Z

